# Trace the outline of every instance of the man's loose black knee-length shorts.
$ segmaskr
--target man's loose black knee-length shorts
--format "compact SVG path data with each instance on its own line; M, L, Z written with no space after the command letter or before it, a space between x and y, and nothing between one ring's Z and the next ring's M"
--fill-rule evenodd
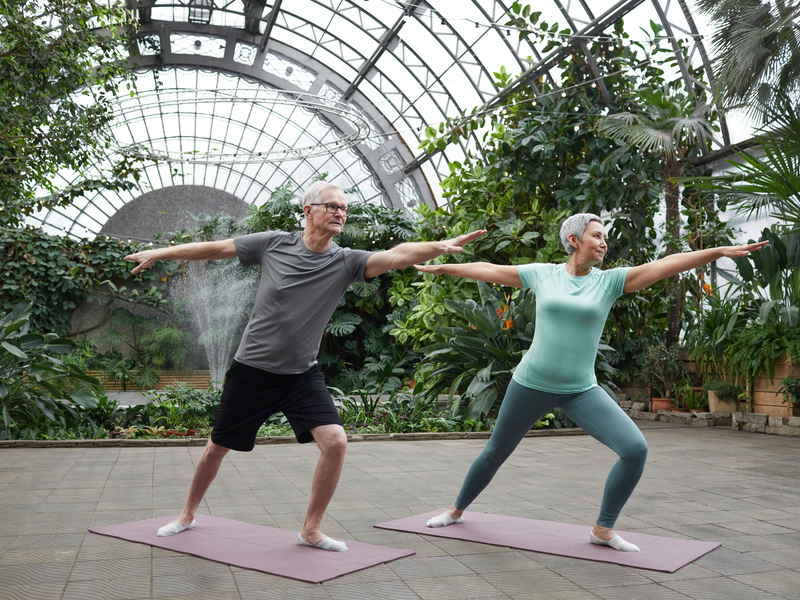
M301 444L314 440L314 427L342 424L318 365L305 373L281 375L234 360L225 374L211 441L250 452L258 429L276 412L286 415Z

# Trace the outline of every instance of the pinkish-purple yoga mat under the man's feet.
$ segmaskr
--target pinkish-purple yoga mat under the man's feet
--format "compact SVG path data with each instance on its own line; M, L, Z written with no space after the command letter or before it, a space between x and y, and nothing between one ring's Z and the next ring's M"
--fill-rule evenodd
M92 527L89 531L310 583L328 581L414 554L413 550L351 540L345 540L347 552L327 552L300 546L296 531L206 515L197 515L197 525L193 529L169 537L156 536L159 527L174 519L174 516L145 519Z

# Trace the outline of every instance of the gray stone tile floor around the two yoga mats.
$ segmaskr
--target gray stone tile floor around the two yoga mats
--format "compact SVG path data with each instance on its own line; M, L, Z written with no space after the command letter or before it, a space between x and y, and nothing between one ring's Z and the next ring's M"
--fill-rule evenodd
M416 555L312 585L87 532L175 514L200 448L0 450L0 598L800 600L800 440L639 422L650 445L618 528L722 542L676 573L377 530L449 505L484 441L353 443L325 531ZM313 445L232 453L201 511L297 530ZM591 525L614 454L528 438L474 510Z

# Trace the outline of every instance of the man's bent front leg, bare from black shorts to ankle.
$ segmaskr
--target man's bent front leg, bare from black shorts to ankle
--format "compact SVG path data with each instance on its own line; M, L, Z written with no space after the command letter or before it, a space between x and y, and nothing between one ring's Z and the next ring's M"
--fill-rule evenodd
M339 476L342 474L344 454L347 451L347 434L341 425L320 425L311 430L320 450L319 462L311 482L311 500L301 537L316 546L327 536L322 533L322 517L330 504Z

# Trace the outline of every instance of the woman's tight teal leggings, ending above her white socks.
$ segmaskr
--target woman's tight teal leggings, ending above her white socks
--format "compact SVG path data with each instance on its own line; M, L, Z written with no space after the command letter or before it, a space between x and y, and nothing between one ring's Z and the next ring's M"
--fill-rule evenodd
M647 442L630 417L598 386L577 394L553 394L512 381L500 406L492 437L472 463L461 486L456 508L465 510L472 504L528 430L553 407L563 410L586 433L619 455L606 479L597 519L598 525L614 527L642 476Z

